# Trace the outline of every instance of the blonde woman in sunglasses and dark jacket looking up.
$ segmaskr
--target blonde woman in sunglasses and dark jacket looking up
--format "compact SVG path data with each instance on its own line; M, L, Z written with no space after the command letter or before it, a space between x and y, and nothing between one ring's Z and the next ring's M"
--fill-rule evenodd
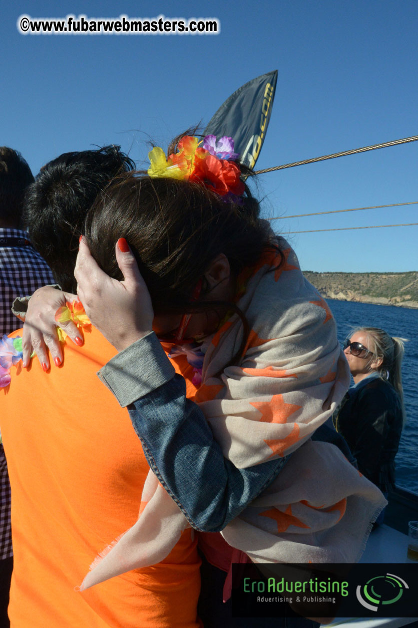
M358 468L383 493L395 484L395 455L405 423L404 342L376 327L359 328L347 338L344 353L355 385L334 418Z

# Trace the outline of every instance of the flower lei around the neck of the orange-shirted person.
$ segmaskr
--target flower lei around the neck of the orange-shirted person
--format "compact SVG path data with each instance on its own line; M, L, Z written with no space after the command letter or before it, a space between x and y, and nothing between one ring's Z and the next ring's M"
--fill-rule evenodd
M65 323L68 320L72 320L78 328L91 326L83 305L78 300L72 303L67 301L65 305L58 308L55 313L55 320L57 323ZM67 336L68 333L65 333L61 327L58 327L58 338L60 342L64 342ZM31 357L34 355L35 354L32 354ZM0 339L0 388L9 386L11 382L11 367L17 365L22 359L22 337L16 336L9 338L8 335L4 334L3 338Z

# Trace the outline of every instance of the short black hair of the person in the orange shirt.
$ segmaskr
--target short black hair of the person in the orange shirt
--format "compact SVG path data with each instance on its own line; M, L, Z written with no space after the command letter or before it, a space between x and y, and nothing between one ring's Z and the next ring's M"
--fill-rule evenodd
M73 271L88 210L112 178L133 168L120 146L64 153L43 166L29 187L24 226L63 290L77 289Z

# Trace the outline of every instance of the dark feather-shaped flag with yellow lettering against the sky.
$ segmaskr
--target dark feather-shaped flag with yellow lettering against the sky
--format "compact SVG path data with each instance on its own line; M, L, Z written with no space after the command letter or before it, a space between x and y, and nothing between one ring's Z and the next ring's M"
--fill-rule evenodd
M232 137L240 161L254 168L269 126L277 70L253 78L225 100L205 129L205 135Z

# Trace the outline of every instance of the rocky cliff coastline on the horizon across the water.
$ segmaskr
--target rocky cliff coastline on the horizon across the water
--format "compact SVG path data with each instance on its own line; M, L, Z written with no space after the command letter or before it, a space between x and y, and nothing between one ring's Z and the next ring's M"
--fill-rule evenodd
M418 272L314 273L303 271L325 298L418 308Z

